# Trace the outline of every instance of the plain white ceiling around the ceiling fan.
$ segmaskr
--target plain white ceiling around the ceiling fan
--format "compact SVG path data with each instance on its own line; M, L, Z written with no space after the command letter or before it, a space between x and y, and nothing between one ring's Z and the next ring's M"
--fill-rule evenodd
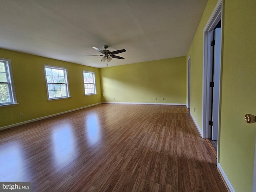
M0 48L106 67L185 56L207 0L0 0Z

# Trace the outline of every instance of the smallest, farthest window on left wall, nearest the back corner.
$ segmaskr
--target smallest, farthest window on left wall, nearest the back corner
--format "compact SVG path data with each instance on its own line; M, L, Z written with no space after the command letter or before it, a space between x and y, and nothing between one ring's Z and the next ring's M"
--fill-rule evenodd
M95 73L90 71L83 71L84 74L84 94L96 94Z

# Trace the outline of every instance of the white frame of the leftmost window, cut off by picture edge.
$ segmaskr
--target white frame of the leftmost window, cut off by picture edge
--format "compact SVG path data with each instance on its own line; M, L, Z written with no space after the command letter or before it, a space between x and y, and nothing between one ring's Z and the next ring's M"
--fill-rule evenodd
M0 82L0 84L7 84L9 94L10 94L10 102L0 103L0 107L16 105L18 103L16 99L14 80L12 76L11 60L0 58L0 62L4 63L5 70L6 70L6 80L7 80L6 82Z

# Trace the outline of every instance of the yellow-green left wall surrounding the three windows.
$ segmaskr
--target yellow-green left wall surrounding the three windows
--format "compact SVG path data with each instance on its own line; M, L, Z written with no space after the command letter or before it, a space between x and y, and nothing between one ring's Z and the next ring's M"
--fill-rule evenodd
M10 59L16 90L16 106L0 108L0 127L101 102L100 70L70 62L0 49L0 58ZM71 98L47 100L44 64L68 69ZM94 71L96 95L84 96L82 70ZM23 113L23 117L19 114Z

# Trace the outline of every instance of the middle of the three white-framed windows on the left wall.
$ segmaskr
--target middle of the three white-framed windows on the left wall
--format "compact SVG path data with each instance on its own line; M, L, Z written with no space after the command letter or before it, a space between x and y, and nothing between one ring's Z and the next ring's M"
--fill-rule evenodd
M44 65L48 100L68 98L68 76L67 69Z

